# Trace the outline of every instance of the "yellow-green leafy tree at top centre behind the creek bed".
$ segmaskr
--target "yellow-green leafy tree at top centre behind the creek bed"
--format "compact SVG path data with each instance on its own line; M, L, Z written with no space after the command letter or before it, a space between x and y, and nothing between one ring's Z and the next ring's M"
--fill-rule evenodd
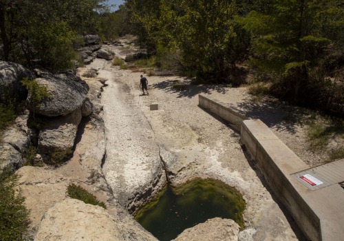
M233 0L127 0L141 38L154 50L180 54L181 65L197 78L228 80L247 46L245 32L234 21Z

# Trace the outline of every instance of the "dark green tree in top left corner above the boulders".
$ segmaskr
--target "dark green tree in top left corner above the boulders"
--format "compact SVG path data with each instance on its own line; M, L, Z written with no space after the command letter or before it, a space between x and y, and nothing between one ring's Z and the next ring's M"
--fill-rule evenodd
M96 32L104 0L0 0L2 59L50 70L71 66L78 34Z

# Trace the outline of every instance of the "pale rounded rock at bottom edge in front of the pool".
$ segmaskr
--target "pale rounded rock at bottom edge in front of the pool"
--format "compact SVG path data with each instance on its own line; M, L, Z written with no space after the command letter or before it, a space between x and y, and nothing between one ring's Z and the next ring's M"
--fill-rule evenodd
M195 227L185 229L175 241L237 241L239 225L230 219L212 218Z

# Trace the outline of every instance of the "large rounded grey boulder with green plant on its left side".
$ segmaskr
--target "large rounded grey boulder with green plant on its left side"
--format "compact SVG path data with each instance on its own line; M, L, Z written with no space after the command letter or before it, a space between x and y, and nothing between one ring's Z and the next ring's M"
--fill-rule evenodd
M47 88L50 96L41 105L30 105L31 96L28 96L28 109L43 116L66 116L76 109L80 109L86 101L89 90L85 81L82 81L72 72L46 75L36 78L36 82Z

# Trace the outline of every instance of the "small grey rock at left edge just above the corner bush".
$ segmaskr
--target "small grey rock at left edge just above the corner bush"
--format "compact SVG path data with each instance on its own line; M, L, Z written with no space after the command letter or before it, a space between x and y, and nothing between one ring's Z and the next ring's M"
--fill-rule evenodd
M19 151L14 149L12 145L3 143L0 145L0 168L10 165L12 171L19 169L24 161Z

